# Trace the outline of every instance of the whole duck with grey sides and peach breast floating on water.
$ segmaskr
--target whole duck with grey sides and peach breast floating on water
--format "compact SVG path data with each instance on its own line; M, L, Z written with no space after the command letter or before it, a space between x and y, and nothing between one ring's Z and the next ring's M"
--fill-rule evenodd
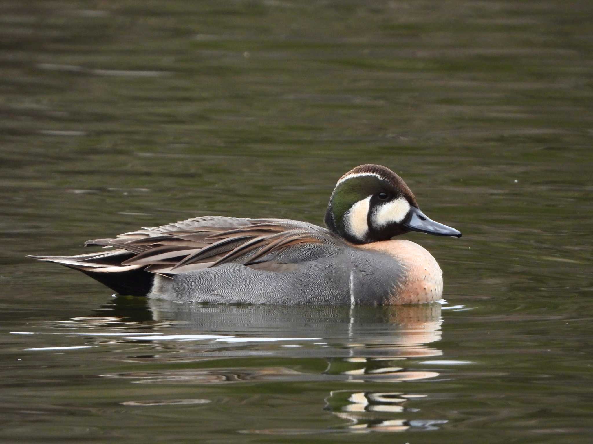
M442 271L410 231L461 237L431 220L391 169L361 165L336 182L326 227L206 215L28 257L76 269L120 295L179 303L401 305L441 299Z

